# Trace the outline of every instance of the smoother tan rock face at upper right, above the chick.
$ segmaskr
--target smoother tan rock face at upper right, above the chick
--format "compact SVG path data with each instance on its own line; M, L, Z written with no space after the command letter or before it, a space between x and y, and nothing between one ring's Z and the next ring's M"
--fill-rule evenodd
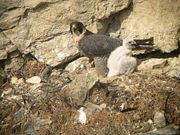
M159 49L171 52L178 48L179 7L180 1L177 0L134 0L131 10L126 10L118 15L119 18L115 18L117 23L112 24L111 33L120 31L121 37L153 36Z

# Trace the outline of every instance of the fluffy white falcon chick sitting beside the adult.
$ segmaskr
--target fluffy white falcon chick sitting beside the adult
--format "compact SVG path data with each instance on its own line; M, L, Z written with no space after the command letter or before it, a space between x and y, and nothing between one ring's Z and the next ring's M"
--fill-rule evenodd
M131 56L132 49L136 46L136 42L131 39L123 40L123 45L117 47L111 52L107 67L109 68L108 77L130 74L137 67L136 58Z

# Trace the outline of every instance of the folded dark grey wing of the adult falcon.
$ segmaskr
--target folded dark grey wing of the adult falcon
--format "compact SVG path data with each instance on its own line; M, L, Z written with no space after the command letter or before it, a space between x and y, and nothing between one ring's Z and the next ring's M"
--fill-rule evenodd
M122 45L122 40L105 35L91 34L84 36L78 49L87 57L97 57L110 54L115 48Z

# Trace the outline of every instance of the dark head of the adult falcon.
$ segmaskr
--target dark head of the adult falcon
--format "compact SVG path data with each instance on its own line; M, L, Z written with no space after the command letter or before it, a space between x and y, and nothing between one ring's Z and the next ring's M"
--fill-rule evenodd
M86 31L85 26L83 23L74 21L70 24L70 32L71 34L75 34L76 36L81 35L83 32Z

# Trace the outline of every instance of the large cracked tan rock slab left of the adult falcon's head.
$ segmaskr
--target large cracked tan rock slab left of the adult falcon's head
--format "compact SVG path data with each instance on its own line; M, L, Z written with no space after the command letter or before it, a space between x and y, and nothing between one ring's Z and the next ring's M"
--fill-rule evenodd
M111 14L128 7L129 0L27 0L3 1L0 28L22 53L31 53L39 61L56 66L77 51L69 31L69 19L83 21L96 30L97 19L107 19ZM14 8L6 12L7 8ZM112 8L113 7L113 8ZM2 56L6 59L6 55Z

